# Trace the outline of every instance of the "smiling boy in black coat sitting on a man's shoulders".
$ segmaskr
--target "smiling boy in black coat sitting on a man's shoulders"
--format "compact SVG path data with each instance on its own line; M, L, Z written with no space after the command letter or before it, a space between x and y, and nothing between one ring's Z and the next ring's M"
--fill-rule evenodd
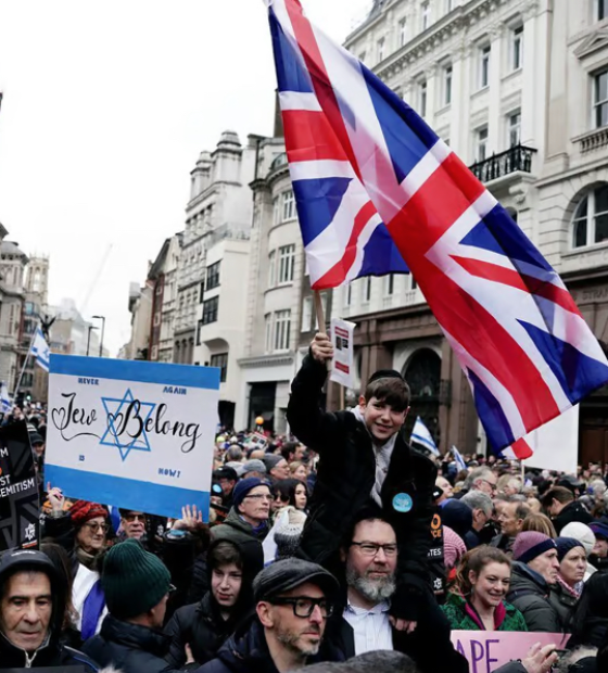
M397 371L380 370L352 411L324 411L319 399L332 357L329 336L316 334L292 383L287 410L292 432L319 455L299 554L329 570L339 569L342 538L357 512L371 506L397 535L397 586L391 601L395 625L411 632L422 615L433 611L445 620L432 594L427 563L436 469L400 434L409 388Z

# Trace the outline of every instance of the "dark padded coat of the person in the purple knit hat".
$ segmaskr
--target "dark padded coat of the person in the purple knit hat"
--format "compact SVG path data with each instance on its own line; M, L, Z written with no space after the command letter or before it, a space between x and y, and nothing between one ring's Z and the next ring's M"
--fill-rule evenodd
M519 561L512 564L507 601L523 614L528 631L561 632L559 613L549 600L549 593L548 584L539 573Z

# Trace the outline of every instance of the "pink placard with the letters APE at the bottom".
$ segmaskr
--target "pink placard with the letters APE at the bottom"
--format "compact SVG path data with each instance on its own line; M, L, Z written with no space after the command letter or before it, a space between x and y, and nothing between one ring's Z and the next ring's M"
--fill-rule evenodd
M524 659L534 645L555 645L565 649L570 637L565 633L503 632L503 631L453 631L452 643L464 655L470 673L492 673L509 661Z

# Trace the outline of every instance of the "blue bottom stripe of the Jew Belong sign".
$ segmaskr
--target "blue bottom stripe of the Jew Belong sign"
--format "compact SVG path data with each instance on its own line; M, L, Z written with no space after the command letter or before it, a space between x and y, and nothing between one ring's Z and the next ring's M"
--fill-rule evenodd
M59 486L69 498L114 505L125 509L143 511L148 515L181 518L181 508L195 505L208 521L208 491L192 491L136 479L111 477L64 468L59 465L45 466L45 483Z

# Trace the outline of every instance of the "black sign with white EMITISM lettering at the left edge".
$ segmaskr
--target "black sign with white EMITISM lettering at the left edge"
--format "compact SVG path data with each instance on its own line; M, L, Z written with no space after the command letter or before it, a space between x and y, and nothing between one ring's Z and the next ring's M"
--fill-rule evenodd
M40 503L25 421L0 429L0 554L40 541Z

